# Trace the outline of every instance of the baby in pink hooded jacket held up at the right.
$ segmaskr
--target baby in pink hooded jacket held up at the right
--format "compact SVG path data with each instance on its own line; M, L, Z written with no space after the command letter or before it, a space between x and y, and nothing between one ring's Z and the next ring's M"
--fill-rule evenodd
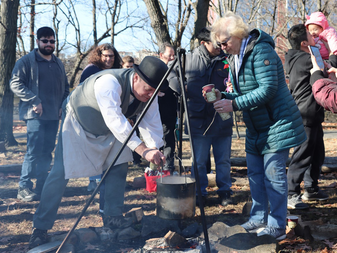
M329 59L329 50L323 44L322 40L327 41L331 52L337 55L337 32L329 26L327 18L320 11L311 13L306 16L307 22L305 26L313 36L316 47L318 47L320 55L323 59Z

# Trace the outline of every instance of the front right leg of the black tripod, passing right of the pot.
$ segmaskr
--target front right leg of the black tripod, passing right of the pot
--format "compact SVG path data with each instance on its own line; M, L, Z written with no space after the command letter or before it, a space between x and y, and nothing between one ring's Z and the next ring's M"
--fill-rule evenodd
M205 246L206 246L206 252L211 253L211 248L210 248L210 243L209 243L209 238L208 238L208 231L207 231L207 223L206 223L206 216L205 216L205 210L204 210L204 203L203 203L203 198L201 195L201 188L200 188L200 180L199 180L199 174L198 174L198 167L196 165L196 157L194 154L194 145L193 145L193 135L190 131L190 126L189 126L189 115L188 115L188 105L187 105L187 96L186 96L186 91L184 87L184 73L183 73L183 66L182 66L182 61L181 61L181 56L183 55L185 58L185 49L177 49L178 52L178 67L179 67L179 76L180 76L180 87L181 87L181 94L183 98L183 103L184 103L184 108L185 108L185 113L186 113L186 124L187 124L187 130L189 134L189 141L190 141L190 146L191 146L191 156L193 158L193 168L194 168L194 175L195 175L195 182L196 182L196 190L198 192L198 198L199 198L199 208L200 208L200 215L201 215L201 220L203 223L203 231L204 231L204 236L205 236Z

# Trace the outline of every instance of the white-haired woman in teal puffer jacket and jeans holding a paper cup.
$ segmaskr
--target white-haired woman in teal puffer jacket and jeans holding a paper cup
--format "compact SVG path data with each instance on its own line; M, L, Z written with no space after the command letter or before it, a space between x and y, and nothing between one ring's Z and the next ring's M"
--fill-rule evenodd
M226 12L212 25L211 38L231 54L227 61L234 88L233 93L216 90L214 108L220 113L243 111L247 127L253 205L249 220L241 226L246 230L265 227L258 236L270 234L281 240L287 213L285 162L289 149L306 139L301 114L285 83L271 36L259 29L249 32L240 16Z

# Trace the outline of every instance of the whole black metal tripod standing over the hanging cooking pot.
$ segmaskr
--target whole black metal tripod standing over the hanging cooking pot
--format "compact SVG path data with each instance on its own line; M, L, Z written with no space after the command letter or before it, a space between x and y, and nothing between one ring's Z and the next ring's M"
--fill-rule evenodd
M184 67L183 64L185 64L185 49L177 49L177 56L174 59L173 64L171 65L171 67L168 69L168 71L166 72L166 74L164 75L163 79L160 81L158 87L156 88L156 90L154 91L152 97L150 98L150 100L148 101L146 107L144 108L143 112L141 113L141 115L139 116L139 118L137 119L136 123L133 125L133 128L131 130L131 132L129 133L128 137L125 139L122 147L119 149L115 159L113 160L113 162L111 163L111 165L109 166L109 169L107 169L104 173L104 175L102 176L100 182L98 183L97 187L95 188L95 190L93 191L93 193L91 194L90 198L88 199L86 205L83 207L83 210L81 211L81 213L79 214L76 222L74 223L74 225L72 226L72 228L69 230L68 234L66 235L66 237L64 238L63 242L61 243L61 245L58 247L56 253L59 253L61 248L63 247L63 245L66 243L66 241L68 240L68 238L70 237L70 235L72 234L72 232L75 230L76 226L79 224L81 218L83 217L83 215L85 214L86 210L88 209L90 203L92 202L92 200L94 199L95 195L97 194L101 182L103 181L103 179L106 177L106 175L108 175L109 171L112 169L112 167L115 165L117 159L119 158L119 156L121 155L123 149L125 148L126 144L128 143L128 141L130 140L132 134L134 133L136 127L139 125L139 123L141 122L141 120L143 119L145 113L147 112L147 110L149 109L150 105L152 104L153 100L155 99L156 95L158 94L162 84L164 83L164 81L167 79L168 75L171 73L171 71L173 70L174 66L176 65L176 63L178 63L178 70L179 70L179 86L181 89L181 97L182 97L182 102L180 105L180 111L182 112L182 108L185 109L185 112L188 112L188 105L187 105L187 97L186 97L186 93L184 90L184 79L185 79L185 75L184 75ZM180 115L180 145L179 145L179 154L178 156L180 156L180 159L182 158L182 115ZM198 197L199 197L199 203L200 203L200 213L201 213L201 217L202 217L202 224L203 224L203 231L204 231L204 236L205 236L205 244L206 244L206 252L210 253L210 245L209 245L209 238L208 238L208 232L207 232L207 224L206 224L206 217L205 217L205 212L204 212L204 206L203 206L203 202L202 202L202 195L201 195L201 189L200 189L200 181L199 181L199 176L198 176L198 169L197 169L197 165L195 163L196 158L195 158L195 154L194 154L194 146L193 146L193 136L192 133L190 132L190 127L189 127L189 115L188 113L186 113L186 123L187 123L187 128L188 128L188 133L190 136L190 145L191 145L191 154L192 154L192 158L193 158L193 165L194 165L194 172L195 172L195 181L196 181L196 188L197 188L197 193L198 193ZM179 161L179 165L181 168L181 160ZM181 171L181 170L180 170ZM53 249L55 249L56 247L54 247ZM50 249L52 250L52 249Z

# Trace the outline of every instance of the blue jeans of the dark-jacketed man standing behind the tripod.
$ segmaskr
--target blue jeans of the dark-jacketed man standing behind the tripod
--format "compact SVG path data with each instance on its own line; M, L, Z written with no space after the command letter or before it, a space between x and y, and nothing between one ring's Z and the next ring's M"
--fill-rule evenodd
M206 135L193 135L193 145L196 157L196 164L198 167L198 174L200 180L201 194L207 195L206 187L208 186L207 178L207 158L211 145L213 147L213 155L216 171L216 185L219 188L218 192L231 192L231 146L232 136L218 136L211 137ZM192 177L194 176L194 169L192 164Z

